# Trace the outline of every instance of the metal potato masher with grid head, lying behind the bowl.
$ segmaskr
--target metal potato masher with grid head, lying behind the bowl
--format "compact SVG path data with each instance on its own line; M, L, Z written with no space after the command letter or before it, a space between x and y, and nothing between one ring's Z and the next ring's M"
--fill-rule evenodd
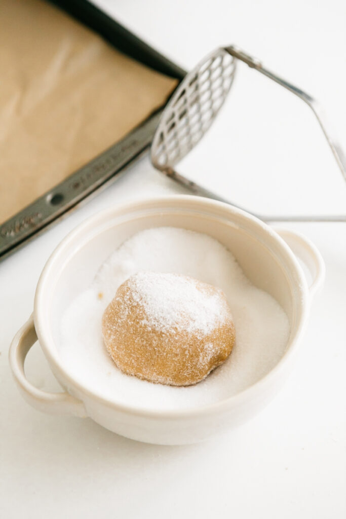
M305 101L315 114L338 166L346 180L346 158L338 141L331 136L319 103L311 95L276 76L261 62L235 46L220 47L206 56L189 72L165 106L151 144L151 162L158 170L187 187L193 194L232 203L188 180L174 166L202 139L222 107L232 86L237 60L241 60L269 77ZM243 208L241 208L243 209ZM251 211L249 211L251 212ZM255 214L264 221L346 221L346 215L336 216L268 216Z

